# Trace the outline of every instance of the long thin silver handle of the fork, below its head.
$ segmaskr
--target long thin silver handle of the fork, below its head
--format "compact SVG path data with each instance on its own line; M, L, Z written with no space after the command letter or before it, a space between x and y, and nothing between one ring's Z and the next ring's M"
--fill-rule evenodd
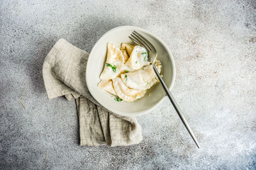
M179 108L178 104L176 103L176 101L175 101L174 97L172 96L170 90L169 90L168 87L165 85L163 79L161 78L160 74L158 73L158 71L157 71L157 69L156 69L156 64L153 64L153 68L154 68L154 71L155 71L155 73L156 73L156 75L157 75L159 81L160 81L161 84L163 85L164 91L166 92L166 94L167 94L167 96L169 97L170 101L172 102L172 104L173 104L175 110L177 111L177 113L178 113L178 115L179 115L181 121L183 122L183 124L185 125L186 129L188 130L190 136L191 136L191 137L193 138L193 140L195 141L196 146L197 146L198 148L200 148L200 145L199 145L199 143L198 143L198 141L197 141L197 139L196 139L194 133L191 131L191 128L189 127L189 124L188 124L187 120L186 120L185 117L182 115L182 112L180 111L180 108Z

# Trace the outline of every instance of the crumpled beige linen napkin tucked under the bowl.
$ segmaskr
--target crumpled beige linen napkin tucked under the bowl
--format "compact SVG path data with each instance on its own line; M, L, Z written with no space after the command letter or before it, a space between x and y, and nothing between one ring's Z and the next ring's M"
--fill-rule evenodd
M122 117L100 106L85 80L88 53L60 39L44 60L44 85L49 99L76 100L81 146L127 146L140 143L141 127L134 117Z

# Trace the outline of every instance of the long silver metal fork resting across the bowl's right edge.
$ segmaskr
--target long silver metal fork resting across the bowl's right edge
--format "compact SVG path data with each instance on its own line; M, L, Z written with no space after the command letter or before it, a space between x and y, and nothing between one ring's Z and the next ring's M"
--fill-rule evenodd
M165 85L163 79L161 78L160 74L158 73L157 69L156 69L156 57L157 57L157 51L156 48L154 48L154 46L143 36L141 36L141 34L139 34L138 32L134 31L132 32L131 36L129 36L129 38L132 39L132 41L134 43L136 43L139 46L143 46L147 52L148 52L148 60L149 62L152 63L154 71L159 79L159 81L161 82L161 84L163 85L164 91L166 92L167 96L169 97L170 101L172 102L175 110L177 111L181 121L183 122L183 124L185 125L186 129L188 130L189 134L191 135L191 137L193 138L193 140L196 143L196 146L198 146L198 148L200 148L199 143L194 135L194 133L191 131L191 128L189 127L188 122L186 121L186 119L184 118L184 116L182 115L182 112L180 111L180 108L178 106L178 104L176 103L174 97L172 96L170 90L168 89L168 87Z

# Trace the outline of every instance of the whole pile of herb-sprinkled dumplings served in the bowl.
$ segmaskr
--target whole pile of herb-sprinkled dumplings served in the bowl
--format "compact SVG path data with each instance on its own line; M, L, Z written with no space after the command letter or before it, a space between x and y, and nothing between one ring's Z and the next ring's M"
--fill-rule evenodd
M107 59L98 87L116 96L116 101L136 101L159 81L152 64L148 62L145 48L127 43L118 47L108 43L107 48ZM160 61L156 60L155 64L160 73Z

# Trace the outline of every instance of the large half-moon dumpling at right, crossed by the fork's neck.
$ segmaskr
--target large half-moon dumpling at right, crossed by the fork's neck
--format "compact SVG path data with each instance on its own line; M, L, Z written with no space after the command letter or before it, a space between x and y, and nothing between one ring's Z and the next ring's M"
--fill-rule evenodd
M159 60L156 62L157 71L161 72ZM121 74L122 81L131 89L147 90L150 89L158 80L152 65L143 67L137 71Z

